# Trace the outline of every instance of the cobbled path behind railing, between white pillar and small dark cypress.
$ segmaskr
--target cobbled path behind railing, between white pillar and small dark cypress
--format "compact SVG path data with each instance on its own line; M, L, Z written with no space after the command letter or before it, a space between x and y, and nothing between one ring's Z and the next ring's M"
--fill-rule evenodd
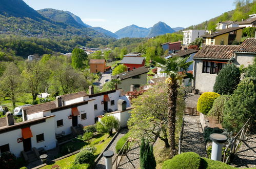
M140 145L134 143L126 156L123 156L117 168L137 168L140 166Z

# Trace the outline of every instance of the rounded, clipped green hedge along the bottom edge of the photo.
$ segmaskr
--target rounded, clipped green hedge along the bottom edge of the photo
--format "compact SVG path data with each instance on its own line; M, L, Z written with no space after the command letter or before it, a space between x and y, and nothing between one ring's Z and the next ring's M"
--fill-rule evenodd
M162 169L229 169L232 166L221 162L214 161L209 158L201 158L198 154L187 152L174 156L170 160L166 160L162 166Z

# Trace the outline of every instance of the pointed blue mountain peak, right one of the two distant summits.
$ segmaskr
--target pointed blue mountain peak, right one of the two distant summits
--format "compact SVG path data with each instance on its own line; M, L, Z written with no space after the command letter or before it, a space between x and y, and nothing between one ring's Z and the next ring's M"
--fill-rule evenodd
M173 32L175 31L171 27L169 27L163 22L159 22L151 28L150 33L147 35L147 37L153 37Z

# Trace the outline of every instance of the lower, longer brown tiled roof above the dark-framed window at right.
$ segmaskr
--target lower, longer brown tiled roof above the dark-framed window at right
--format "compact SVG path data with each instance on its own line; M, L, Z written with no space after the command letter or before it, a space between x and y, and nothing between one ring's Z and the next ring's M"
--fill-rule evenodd
M233 51L238 50L239 47L239 45L206 45L193 58L229 60L233 57Z

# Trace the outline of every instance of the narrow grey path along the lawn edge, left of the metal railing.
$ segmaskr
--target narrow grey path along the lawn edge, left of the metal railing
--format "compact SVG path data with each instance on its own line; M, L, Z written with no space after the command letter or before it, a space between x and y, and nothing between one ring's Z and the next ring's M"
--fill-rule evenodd
M111 150L112 152L114 152L114 156L112 157L112 160L115 159L116 157L116 153L115 153L115 145L116 145L116 142L121 138L123 137L126 133L128 133L128 129L121 129L121 131L119 132L119 134L116 136L116 138L114 139L114 141L111 143L111 145L109 145L108 150ZM101 159L96 163L96 166L95 166L96 169L105 169L106 166L105 166L105 158L102 156Z

